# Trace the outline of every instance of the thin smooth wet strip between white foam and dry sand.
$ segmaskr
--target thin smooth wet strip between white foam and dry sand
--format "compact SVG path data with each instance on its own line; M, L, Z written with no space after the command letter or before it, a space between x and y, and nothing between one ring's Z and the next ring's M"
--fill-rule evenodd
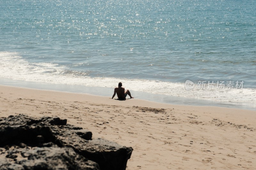
M51 90L58 92L71 92L80 94L91 94L97 96L111 97L114 92L114 87L87 87L84 85L68 85L68 84L51 84L45 82L29 82L21 80L12 80L8 78L1 78L0 85L31 88L38 90ZM213 101L206 99L196 99L189 97L177 97L164 94L154 94L149 92L140 92L129 89L132 92L132 96L136 99L153 101L163 104L185 105L185 106L212 106L212 107L225 107L225 108L237 108L246 110L255 110L256 103L247 102L227 102L227 101Z

